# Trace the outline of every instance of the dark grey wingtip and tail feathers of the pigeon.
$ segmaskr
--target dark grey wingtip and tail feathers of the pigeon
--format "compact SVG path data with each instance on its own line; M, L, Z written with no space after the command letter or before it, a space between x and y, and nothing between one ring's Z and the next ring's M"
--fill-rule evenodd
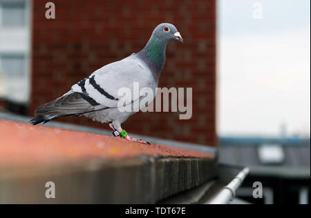
M35 110L35 115L81 115L104 108L85 94L68 92L58 99L39 106Z

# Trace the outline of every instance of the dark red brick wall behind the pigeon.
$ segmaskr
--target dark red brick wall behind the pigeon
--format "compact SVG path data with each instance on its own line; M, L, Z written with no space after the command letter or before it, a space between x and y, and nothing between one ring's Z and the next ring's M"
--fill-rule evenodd
M193 116L180 120L176 112L139 112L122 127L216 146L216 0L54 0L56 19L45 18L46 2L33 0L30 115L97 68L141 50L153 28L169 22L185 43L169 43L159 87L192 87ZM109 128L85 117L60 120Z

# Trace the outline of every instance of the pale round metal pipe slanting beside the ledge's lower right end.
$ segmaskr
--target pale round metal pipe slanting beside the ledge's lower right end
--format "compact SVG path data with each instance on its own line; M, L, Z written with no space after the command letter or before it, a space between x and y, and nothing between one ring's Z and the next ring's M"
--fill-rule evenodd
M211 200L207 201L206 204L228 204L230 200L236 197L236 190L241 186L248 173L249 168L244 168L227 186L223 187Z

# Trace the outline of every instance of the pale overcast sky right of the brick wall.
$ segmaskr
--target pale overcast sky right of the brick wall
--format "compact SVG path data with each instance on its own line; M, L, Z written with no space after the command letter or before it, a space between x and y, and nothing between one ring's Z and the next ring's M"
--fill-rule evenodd
M220 135L310 137L310 0L219 0L218 84Z

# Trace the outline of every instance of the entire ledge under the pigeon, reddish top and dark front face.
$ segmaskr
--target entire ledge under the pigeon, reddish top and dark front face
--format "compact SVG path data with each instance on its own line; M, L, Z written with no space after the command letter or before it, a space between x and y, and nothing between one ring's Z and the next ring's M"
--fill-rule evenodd
M202 150L8 120L0 134L0 204L154 204L216 177Z

